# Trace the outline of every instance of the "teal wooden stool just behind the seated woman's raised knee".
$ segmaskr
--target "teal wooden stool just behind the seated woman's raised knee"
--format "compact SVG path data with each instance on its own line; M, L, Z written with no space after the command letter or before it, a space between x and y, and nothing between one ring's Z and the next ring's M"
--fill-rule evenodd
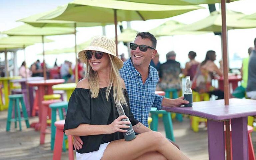
M156 108L152 107L150 113L152 117L152 122L150 123L150 129L153 131L157 131L158 114L163 114L163 122L164 122L166 137L175 142L170 112L166 112L164 110L157 111Z

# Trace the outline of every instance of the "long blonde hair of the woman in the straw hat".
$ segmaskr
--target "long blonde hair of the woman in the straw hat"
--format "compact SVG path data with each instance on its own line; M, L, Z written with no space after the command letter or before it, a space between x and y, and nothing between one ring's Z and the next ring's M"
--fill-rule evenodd
M107 53L106 53L107 54ZM113 97L115 100L115 103L120 101L121 104L127 105L124 93L123 93L123 84L121 77L119 76L119 71L117 68L117 65L114 62L114 57L112 55L109 55L109 60L110 60L110 79L109 79L109 84L107 87L107 92L106 92L106 98L108 100L108 96L110 94L110 90L113 86ZM87 65L86 65L86 78L88 78L89 82L89 88L91 90L91 98L97 98L99 95L99 77L98 73L94 70L92 70L92 67L89 65L88 59L87 59Z

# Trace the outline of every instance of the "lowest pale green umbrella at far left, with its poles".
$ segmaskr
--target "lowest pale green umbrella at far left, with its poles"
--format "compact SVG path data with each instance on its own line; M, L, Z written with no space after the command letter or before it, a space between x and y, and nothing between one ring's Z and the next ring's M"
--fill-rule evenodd
M7 51L8 50L17 50L23 49L24 51L24 61L26 61L25 47L33 45L35 43L40 43L41 37L35 36L11 36L0 38L0 52L1 50L5 52L5 67L6 67L6 76L8 75L8 65L7 65ZM45 39L45 42L53 42L50 39Z

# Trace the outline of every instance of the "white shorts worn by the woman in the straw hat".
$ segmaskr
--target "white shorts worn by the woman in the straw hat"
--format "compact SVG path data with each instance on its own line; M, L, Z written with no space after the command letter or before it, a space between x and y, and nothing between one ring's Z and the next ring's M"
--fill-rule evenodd
M76 152L76 160L100 160L109 143L110 142L101 144L99 150L97 151L89 153Z

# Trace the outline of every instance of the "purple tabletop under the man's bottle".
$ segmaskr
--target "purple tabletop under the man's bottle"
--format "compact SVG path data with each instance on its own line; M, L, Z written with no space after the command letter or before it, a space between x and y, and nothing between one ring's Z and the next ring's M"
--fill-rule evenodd
M231 98L229 105L224 105L224 99L202 101L193 102L193 107L163 107L162 110L224 121L256 115L256 100Z

